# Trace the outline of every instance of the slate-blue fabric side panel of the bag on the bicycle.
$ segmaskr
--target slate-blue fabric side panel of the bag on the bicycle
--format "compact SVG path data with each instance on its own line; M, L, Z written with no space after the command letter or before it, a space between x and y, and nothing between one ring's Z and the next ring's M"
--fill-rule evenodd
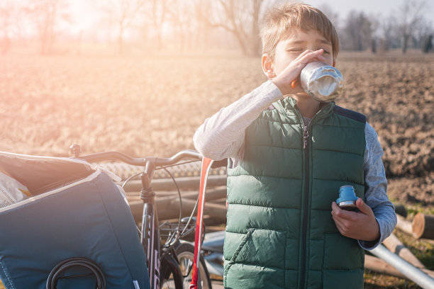
M0 213L0 273L7 289L43 289L52 268L71 257L94 261L107 289L134 289L133 280L150 287L133 216L105 174ZM89 278L83 279L62 280L57 288L88 288Z

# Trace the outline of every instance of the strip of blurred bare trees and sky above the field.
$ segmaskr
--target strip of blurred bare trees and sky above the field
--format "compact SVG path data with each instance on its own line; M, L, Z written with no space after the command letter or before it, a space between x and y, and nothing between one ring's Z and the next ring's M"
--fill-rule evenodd
M1 0L0 52L118 55L239 50L260 55L258 23L277 0ZM338 28L343 50L387 52L433 45L433 2L306 1Z

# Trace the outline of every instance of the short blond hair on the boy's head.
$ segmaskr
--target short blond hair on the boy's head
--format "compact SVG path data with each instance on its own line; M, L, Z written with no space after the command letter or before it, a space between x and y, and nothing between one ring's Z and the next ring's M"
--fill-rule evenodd
M299 2L286 2L265 14L260 30L262 53L267 53L274 60L277 43L289 36L291 28L318 30L331 42L333 60L338 57L339 37L333 23L317 8Z

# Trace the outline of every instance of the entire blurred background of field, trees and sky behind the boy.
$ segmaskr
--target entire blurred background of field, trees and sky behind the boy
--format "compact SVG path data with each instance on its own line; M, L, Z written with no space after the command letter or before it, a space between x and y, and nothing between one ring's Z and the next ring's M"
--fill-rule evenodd
M168 157L266 81L258 24L276 0L0 0L0 150ZM306 1L342 50L338 105L367 115L389 198L434 214L434 3ZM399 232L398 232L399 233ZM434 269L434 244L399 234ZM0 288L1 284L0 284ZM418 288L367 272L365 288Z

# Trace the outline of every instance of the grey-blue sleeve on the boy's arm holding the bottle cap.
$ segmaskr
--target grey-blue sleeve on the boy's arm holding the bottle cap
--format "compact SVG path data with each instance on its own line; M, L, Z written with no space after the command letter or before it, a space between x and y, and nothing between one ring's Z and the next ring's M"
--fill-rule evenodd
M396 214L394 204L387 196L387 180L382 162L383 149L380 145L377 132L369 123L365 126L365 203L372 208L377 219L380 237L378 240L367 242L359 240L360 246L365 250L372 250L394 231Z

